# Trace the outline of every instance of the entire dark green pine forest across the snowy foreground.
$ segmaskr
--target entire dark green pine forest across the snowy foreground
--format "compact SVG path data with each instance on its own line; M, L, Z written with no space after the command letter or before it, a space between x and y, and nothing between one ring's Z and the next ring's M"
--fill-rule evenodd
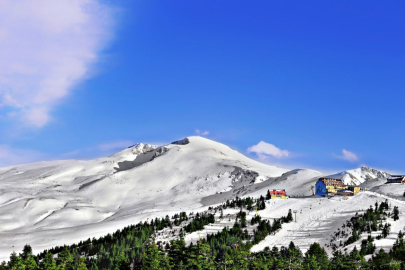
M225 227L215 234L208 234L206 239L186 245L184 235L171 240L163 246L155 243L156 233L178 226L188 221L185 212L172 218L152 219L151 222L141 222L118 230L98 239L87 239L71 246L55 247L33 255L29 245L24 246L22 253L13 252L9 262L3 262L0 270L19 269L405 269L405 240L402 232L390 251L376 251L374 239L369 236L362 240L360 250L355 247L350 253L335 250L331 258L318 244L313 243L303 254L293 242L288 247L265 248L262 252L251 253L253 245L261 242L268 235L275 234L283 223L293 221L291 210L286 216L274 219L272 222L262 219L259 215L251 219L251 225L256 225L253 233L246 229L246 212L253 206L263 209L264 198L252 198L227 201L222 207L240 208L233 227ZM348 242L358 240L361 233L382 230L382 236L389 234L390 225L381 221L392 216L399 218L398 208L387 212L388 202L376 203L362 214L356 214L348 223L353 235ZM250 209L250 210L249 210ZM213 209L211 209L213 210ZM190 213L190 216L193 216ZM174 220L173 222L171 221ZM186 232L203 229L209 223L215 222L215 216L207 213L197 213L191 222L184 226ZM347 243L346 243L347 244ZM366 255L374 254L368 261Z

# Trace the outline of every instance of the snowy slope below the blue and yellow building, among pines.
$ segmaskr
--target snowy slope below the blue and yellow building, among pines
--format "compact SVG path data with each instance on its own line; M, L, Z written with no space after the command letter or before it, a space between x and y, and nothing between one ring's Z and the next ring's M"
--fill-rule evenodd
M373 192L362 192L348 200L344 200L343 197L272 200L266 209L261 211L262 217L267 219L280 218L285 216L289 209L292 209L297 210L297 222L283 224L282 230L275 235L267 236L264 241L253 246L251 250L257 252L267 246L288 246L290 241L293 241L305 252L313 242L318 242L331 255L332 250L327 248L327 245L331 243L333 233L342 229L346 220L353 217L356 212L362 213L370 205L374 205L375 202L380 203L387 198ZM392 207L399 207L400 219L398 221L389 219L388 222L392 225L389 237L376 240L376 246L386 250L392 247L398 232L404 231L405 228L405 202L394 199L390 200L390 204ZM367 234L363 236L366 237ZM339 241L340 239L337 240L337 244ZM355 245L359 249L360 244L361 240L358 240L348 246L348 251L350 252Z

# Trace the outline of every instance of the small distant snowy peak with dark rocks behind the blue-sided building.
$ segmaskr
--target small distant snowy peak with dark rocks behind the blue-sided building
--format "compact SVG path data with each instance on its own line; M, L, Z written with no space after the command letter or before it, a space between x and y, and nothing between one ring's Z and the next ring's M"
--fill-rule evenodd
M362 166L357 169L346 170L328 177L341 179L345 185L360 185L366 181L374 179L386 180L389 176L390 174L387 172Z

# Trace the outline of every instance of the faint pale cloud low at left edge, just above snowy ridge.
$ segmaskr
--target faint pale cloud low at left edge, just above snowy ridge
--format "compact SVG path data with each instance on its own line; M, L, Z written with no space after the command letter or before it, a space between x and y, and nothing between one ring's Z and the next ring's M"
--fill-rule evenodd
M0 167L24 164L43 160L45 156L37 151L27 149L13 149L0 144Z

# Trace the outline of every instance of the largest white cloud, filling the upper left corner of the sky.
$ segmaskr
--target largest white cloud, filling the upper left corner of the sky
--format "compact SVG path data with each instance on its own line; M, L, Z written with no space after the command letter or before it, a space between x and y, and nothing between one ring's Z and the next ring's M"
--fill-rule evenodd
M42 127L111 38L98 0L0 0L0 108ZM0 111L1 113L1 111Z

